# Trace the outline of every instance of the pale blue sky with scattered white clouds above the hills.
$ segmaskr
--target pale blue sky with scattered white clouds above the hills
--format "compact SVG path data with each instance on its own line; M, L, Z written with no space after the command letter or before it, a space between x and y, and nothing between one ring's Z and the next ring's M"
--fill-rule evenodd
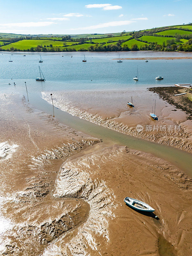
M0 1L0 32L103 34L192 22L191 0Z

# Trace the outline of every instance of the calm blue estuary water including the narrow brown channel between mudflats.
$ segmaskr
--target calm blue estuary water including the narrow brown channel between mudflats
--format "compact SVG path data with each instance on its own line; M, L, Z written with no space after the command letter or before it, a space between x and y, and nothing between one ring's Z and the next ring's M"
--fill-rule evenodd
M0 55L0 92L20 92L27 98L25 81L28 87L29 103L48 114L53 114L53 108L41 98L41 91L57 90L87 90L87 89L124 89L140 88L158 85L173 85L174 83L190 83L192 81L192 60L124 60L117 63L119 53L88 53L87 62L83 63L83 52L76 53L44 53L43 63L36 53L13 53L13 62L8 62L10 53ZM122 52L121 57L176 56L176 54L191 56L190 53L176 52ZM71 58L71 56L73 56ZM46 81L36 81L40 65ZM139 81L134 81L137 65ZM156 80L156 76L164 76L164 80ZM12 78L12 80L11 80ZM92 81L91 81L92 80ZM16 86L13 85L15 82ZM11 85L8 85L11 83ZM188 174L192 174L192 157L176 148L140 140L102 126L92 124L78 117L54 108L55 117L63 124L102 139L106 143L116 143L129 148L142 150L161 157Z

